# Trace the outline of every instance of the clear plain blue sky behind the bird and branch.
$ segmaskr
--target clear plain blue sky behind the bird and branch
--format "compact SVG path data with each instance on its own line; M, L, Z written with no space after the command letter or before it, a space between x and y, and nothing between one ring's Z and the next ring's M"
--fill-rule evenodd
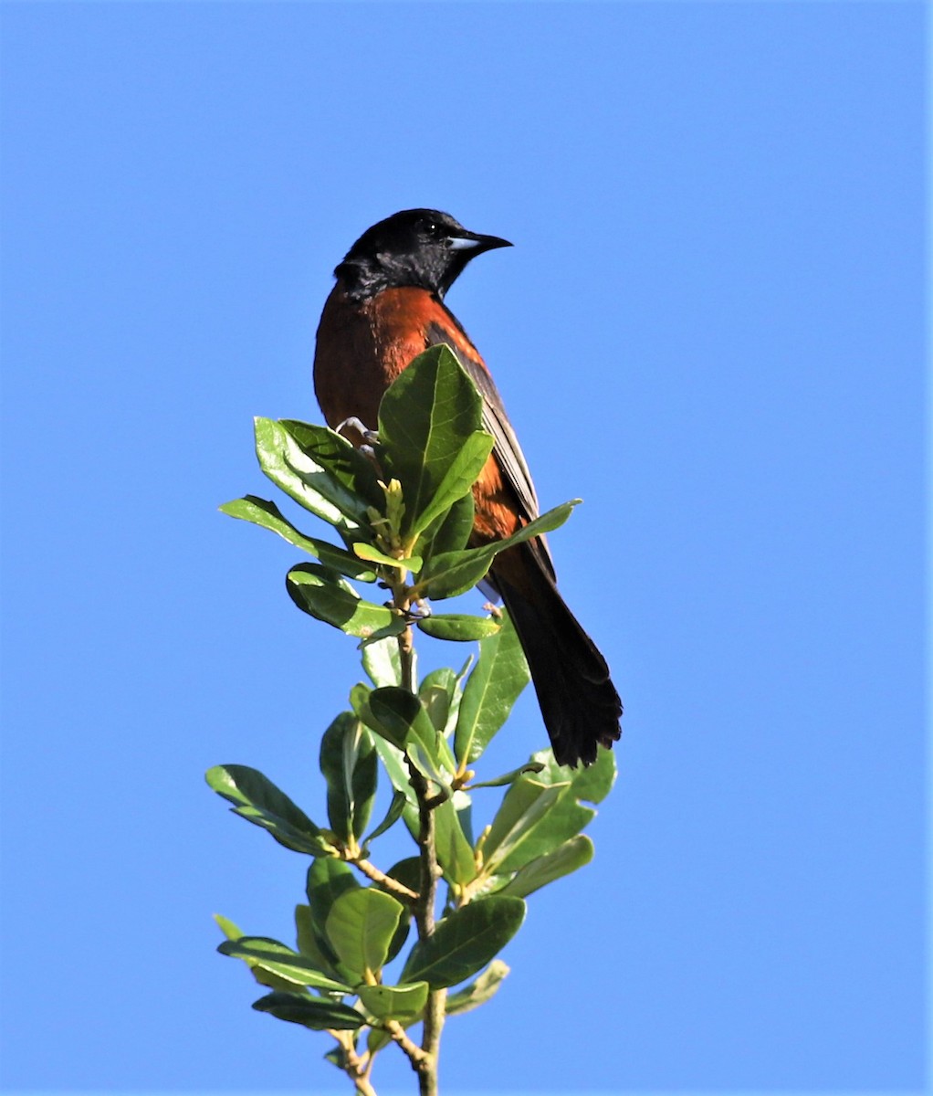
M356 652L216 506L415 205L516 243L449 301L543 504L586 500L552 547L626 704L597 859L448 1091L919 1087L922 5L3 24L7 1091L347 1087L214 951L214 911L288 936L303 863L201 774L313 812ZM491 767L543 742L527 698Z

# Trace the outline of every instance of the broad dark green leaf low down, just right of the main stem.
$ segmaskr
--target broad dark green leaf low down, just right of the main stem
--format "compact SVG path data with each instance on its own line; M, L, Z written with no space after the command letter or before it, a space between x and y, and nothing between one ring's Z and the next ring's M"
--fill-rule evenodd
M412 948L400 981L425 981L433 990L457 985L485 967L523 920L525 902L511 895L493 894L461 906Z

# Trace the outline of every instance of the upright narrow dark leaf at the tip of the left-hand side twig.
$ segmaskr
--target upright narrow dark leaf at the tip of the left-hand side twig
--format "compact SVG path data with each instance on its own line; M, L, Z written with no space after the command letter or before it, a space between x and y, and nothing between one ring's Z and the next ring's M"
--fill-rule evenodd
M331 829L345 845L361 837L369 822L378 767L372 735L356 716L342 712L321 739L321 772Z

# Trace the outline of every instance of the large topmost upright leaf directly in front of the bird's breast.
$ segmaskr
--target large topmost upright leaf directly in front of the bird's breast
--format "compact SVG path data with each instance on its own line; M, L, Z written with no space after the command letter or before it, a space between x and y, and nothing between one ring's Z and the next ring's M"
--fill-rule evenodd
M379 455L387 475L402 483L405 535L425 529L470 491L492 446L481 429L482 406L442 345L419 354L382 398Z

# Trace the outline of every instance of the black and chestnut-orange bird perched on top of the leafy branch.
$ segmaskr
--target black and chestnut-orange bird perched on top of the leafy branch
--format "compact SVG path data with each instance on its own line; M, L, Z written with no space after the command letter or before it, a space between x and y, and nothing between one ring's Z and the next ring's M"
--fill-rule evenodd
M483 401L495 444L473 488L470 544L516 533L539 514L528 464L499 391L445 296L477 255L511 247L437 209L404 209L367 229L334 271L314 352L314 391L329 426L378 421L392 381L430 346L446 344ZM622 703L596 643L557 590L538 537L495 556L486 578L515 626L558 765L592 764L621 735Z

